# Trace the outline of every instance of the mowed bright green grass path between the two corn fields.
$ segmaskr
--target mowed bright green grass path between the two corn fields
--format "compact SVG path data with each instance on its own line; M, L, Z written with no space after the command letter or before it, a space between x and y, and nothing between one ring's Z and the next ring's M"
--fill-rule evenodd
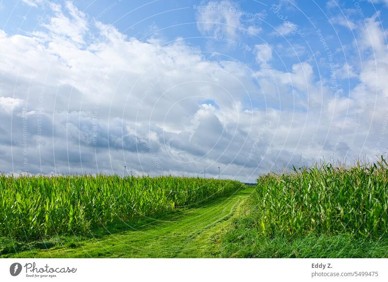
M219 240L239 215L254 187L221 196L208 203L177 210L159 219L136 224L121 224L122 231L108 228L106 235L77 240L73 247L57 245L51 249L31 249L3 257L97 258L97 257L218 257ZM71 246L71 245L70 245Z

